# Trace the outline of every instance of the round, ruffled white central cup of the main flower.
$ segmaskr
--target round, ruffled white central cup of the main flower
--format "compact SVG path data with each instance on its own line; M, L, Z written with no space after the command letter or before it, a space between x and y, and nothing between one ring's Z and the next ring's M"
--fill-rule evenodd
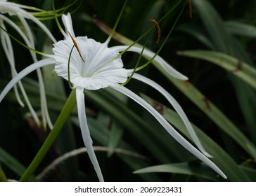
M75 87L87 90L98 90L127 80L127 70L123 68L119 52L96 42L87 36L75 38L85 63L77 48L72 50L70 58L70 81ZM53 52L56 59L55 71L58 76L68 80L68 58L73 43L68 40L54 44Z

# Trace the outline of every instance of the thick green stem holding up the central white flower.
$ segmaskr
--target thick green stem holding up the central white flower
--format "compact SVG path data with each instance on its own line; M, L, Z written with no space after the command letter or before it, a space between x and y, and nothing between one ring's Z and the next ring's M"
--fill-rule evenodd
M23 176L20 178L20 182L28 181L30 179L30 176L34 173L34 170L37 169L38 165L40 164L41 160L43 160L46 153L51 148L51 145L55 141L56 137L58 136L58 133L62 129L63 125L65 124L66 120L70 116L70 113L75 106L75 90L72 90L70 93L70 96L68 97L67 102L65 102L65 105L63 106L62 111L60 112L60 116L58 116L58 119L56 120L56 123L51 130L49 136L44 141L43 146L41 146L40 150L38 151L37 155L35 156L34 160L30 163L30 166L27 167L26 171L24 172Z

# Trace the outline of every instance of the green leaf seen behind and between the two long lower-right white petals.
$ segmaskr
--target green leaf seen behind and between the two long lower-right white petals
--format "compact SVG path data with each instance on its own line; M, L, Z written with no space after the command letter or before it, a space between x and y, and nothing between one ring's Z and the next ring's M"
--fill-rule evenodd
M143 99L145 99L152 106L153 102L155 102L150 97L146 97L146 95L143 95ZM177 113L162 104L158 104L158 106L162 107L162 116L191 140L186 127L182 123L181 118L177 115ZM215 162L215 164L222 169L222 172L226 174L229 181L250 181L249 177L245 174L245 172L243 172L243 169L241 169L236 162L234 162L234 160L217 143L215 143L215 141L210 139L207 134L205 134L195 125L193 125L193 128L205 150L212 155L212 162Z

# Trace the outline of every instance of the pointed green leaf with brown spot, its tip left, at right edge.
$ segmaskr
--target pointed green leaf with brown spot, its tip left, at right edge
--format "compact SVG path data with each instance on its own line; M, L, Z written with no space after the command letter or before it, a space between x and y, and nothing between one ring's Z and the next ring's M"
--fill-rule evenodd
M186 50L180 51L178 54L186 57L204 59L217 64L256 89L256 69L242 62L240 59L236 59L222 52L209 50Z

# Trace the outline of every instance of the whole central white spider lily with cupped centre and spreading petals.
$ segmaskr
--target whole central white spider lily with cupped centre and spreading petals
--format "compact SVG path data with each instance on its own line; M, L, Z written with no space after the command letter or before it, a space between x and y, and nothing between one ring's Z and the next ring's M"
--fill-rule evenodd
M165 118L163 118L158 111L156 111L153 106L148 104L144 99L139 97L137 94L129 90L127 87L120 85L124 83L127 78L132 74L132 70L124 69L121 56L119 55L121 50L125 50L128 46L117 46L108 48L108 38L105 43L98 43L94 39L87 38L87 36L78 36L76 37L72 29L72 20L70 14L63 15L63 23L65 25L67 33L64 33L65 40L58 41L54 44L53 53L54 55L49 59L44 59L40 62L36 62L26 69L18 73L18 75L11 80L11 82L6 86L3 92L0 94L0 102L6 95L6 93L11 90L13 85L17 83L21 78L26 74L38 69L41 66L46 66L52 62L56 62L55 71L58 76L61 76L68 80L68 62L70 61L70 82L76 90L76 99L77 99L77 111L79 124L82 132L82 138L84 145L87 148L89 158L94 165L94 169L98 176L99 181L103 181L103 176L101 174L101 169L98 165L98 160L93 150L93 144L89 133L89 127L87 125L87 116L85 113L85 104L84 104L84 89L87 90L98 90L105 87L110 87L113 90L117 90L122 94L125 94L127 97L130 97L135 102L143 106L148 112L150 112L156 120L162 125L162 127L167 130L167 132L176 139L179 144L184 146L189 152L195 155L198 159L202 160L209 167L215 170L220 176L226 179L225 174L203 153L198 151L192 144L190 144L184 137L177 132L172 125L170 125ZM77 50L72 50L74 44L76 44ZM70 55L70 51L72 53ZM141 52L141 48L132 47L128 51ZM151 58L155 54L150 51L146 51L146 57ZM154 59L159 63L168 73L176 76L177 78L186 79L186 76L183 76L178 71L174 71L161 57L156 56ZM174 106L174 109L177 110L179 116L184 121L184 124L188 128L192 138L196 141L198 148L203 150L203 147L200 146L200 142L196 137L196 134L193 132L193 128L189 123L184 111L181 109L181 106L175 101L175 99L160 85L155 83L153 80L150 80L144 76L141 76L138 73L134 73L133 78L140 80L143 83L151 85L161 94L163 94L167 100ZM198 140L198 141L197 141ZM199 143L199 144L198 144ZM207 153L205 152L207 155Z

